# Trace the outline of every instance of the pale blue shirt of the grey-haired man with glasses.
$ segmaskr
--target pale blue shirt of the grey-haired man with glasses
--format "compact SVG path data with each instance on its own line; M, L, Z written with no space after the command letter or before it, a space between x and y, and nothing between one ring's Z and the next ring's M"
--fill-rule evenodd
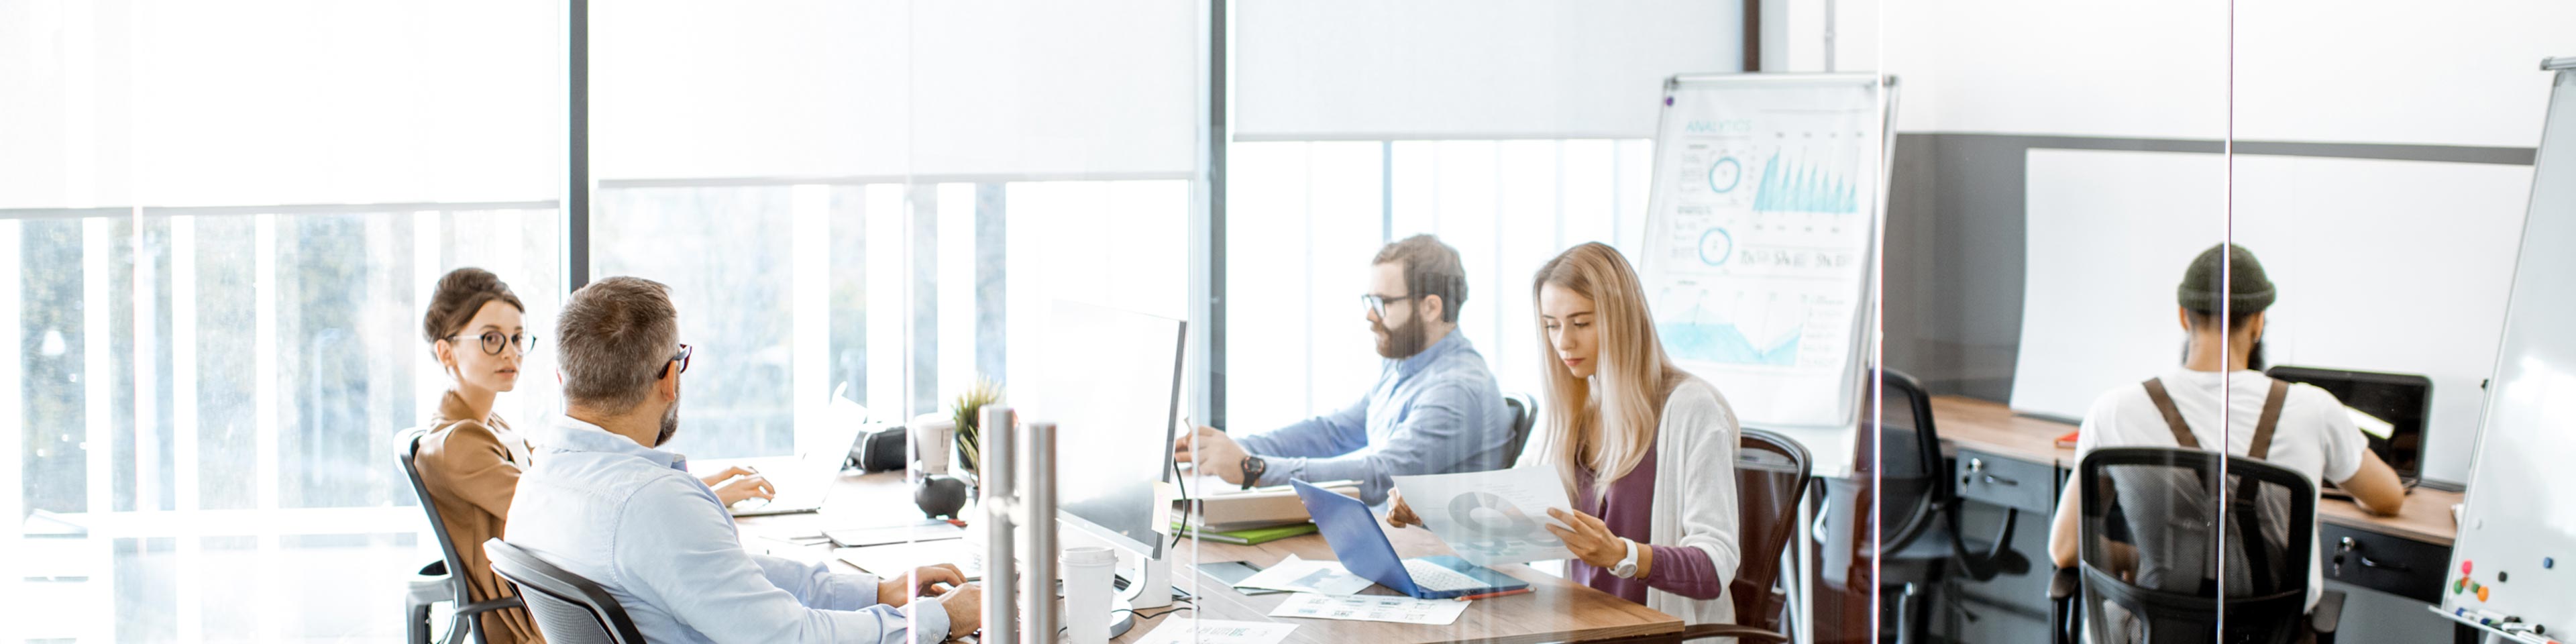
M948 639L938 598L878 605L871 574L744 551L732 513L677 453L572 417L528 438L536 464L518 477L502 538L605 587L644 639Z

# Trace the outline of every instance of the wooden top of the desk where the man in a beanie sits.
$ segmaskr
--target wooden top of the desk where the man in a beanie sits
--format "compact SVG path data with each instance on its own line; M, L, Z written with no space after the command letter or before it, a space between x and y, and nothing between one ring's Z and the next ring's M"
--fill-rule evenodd
M1940 422L1945 440L1963 448L2056 464L2058 469L2074 469L2076 464L2076 451L2058 446L2058 435L2076 430L2076 425L2014 415L2002 402L1932 397L1932 420ZM2398 507L2393 518L2372 515L2349 500L2318 500L2316 513L2334 526L2450 546L2460 533L2460 526L2450 518L2450 505L2455 502L2460 502L2460 492L2416 487L2406 495L2406 507Z

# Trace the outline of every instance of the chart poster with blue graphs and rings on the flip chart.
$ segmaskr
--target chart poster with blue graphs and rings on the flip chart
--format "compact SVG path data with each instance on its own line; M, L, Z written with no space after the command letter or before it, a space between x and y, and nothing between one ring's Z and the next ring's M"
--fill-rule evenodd
M1664 353L1770 428L1857 412L1886 149L1875 75L1680 77L1643 281Z

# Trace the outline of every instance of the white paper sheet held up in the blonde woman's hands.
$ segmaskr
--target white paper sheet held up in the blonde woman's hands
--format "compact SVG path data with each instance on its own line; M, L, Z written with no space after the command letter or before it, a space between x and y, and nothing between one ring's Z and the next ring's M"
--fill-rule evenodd
M1548 533L1548 507L1571 510L1556 469L1522 466L1468 474L1394 477L1404 505L1425 528L1448 541L1458 559L1479 567L1574 559L1566 541Z

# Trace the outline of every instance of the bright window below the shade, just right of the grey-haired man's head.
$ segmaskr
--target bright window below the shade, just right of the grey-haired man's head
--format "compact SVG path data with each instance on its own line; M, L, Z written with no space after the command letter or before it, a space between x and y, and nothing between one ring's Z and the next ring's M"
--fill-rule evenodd
M608 188L595 276L672 286L698 355L675 451L781 456L796 428L943 412L1033 379L1056 299L1188 317L1185 180Z

